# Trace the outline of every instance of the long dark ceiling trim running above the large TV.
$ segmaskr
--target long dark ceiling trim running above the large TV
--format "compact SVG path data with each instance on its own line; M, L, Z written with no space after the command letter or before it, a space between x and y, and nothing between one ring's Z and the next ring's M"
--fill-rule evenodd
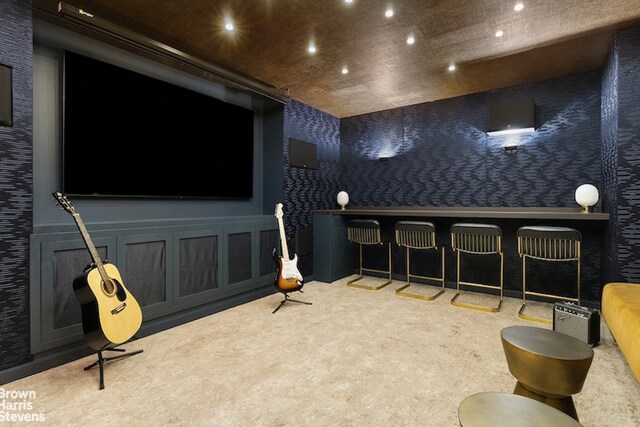
M109 22L103 18L95 16L83 9L73 6L66 2L58 3L58 12L67 20L83 27L97 30L102 34L106 34L110 37L142 49L146 52L150 52L153 55L158 55L162 58L169 58L171 60L177 60L181 64L187 65L196 69L202 76L208 80L216 80L222 84L229 84L233 87L244 89L245 91L272 99L274 101L286 104L289 102L289 97L282 95L278 90L272 86L257 82L255 80L241 76L233 71L229 71L217 65L202 61L192 55L161 43L157 40L135 33L124 27Z

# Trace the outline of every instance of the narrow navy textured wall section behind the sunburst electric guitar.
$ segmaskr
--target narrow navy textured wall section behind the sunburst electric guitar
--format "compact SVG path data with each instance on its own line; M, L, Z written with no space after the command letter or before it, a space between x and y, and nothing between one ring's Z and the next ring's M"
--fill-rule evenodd
M315 170L289 167L289 138L312 143L317 148ZM295 248L295 230L312 228L312 212L335 209L340 157L339 120L298 101L284 112L284 225L289 253ZM313 272L311 255L298 259L303 276Z

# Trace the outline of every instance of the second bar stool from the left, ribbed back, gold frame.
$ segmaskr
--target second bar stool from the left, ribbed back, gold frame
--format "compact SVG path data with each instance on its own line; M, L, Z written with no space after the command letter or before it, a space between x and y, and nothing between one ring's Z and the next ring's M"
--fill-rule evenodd
M432 301L444 293L444 245L436 245L436 227L431 222L422 221L398 221L395 226L396 243L407 248L407 284L396 290L396 295L401 297L416 298ZM411 274L411 249L435 250L440 252L440 277L420 276ZM411 292L403 292L409 288L411 278L433 280L442 284L442 289L432 296L425 296ZM415 284L413 284L415 285Z

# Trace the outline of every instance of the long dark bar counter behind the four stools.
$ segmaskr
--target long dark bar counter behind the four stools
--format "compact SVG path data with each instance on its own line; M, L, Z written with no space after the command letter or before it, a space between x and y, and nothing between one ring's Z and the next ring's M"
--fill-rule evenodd
M388 238L393 239L393 228L397 221L429 221L436 226L437 240L450 248L450 228L456 222L496 224L503 233L505 256L505 295L521 297L522 267L517 253L516 232L521 226L546 225L571 227L582 235L582 295L585 302L599 304L602 286L601 260L604 256L604 234L609 214L603 212L583 213L575 207L347 207L346 209L313 211L313 278L331 283L343 277L355 274L358 267L357 245L347 239L347 221L355 218L377 219ZM368 250L375 251L376 248ZM396 280L405 280L405 255L392 240L393 276ZM455 287L455 264L453 252L446 251L445 273L447 287ZM386 268L382 261L386 259L376 254L367 256L373 261L373 267ZM487 260L487 262L491 262ZM422 263L422 262L420 262ZM376 265L380 264L380 265ZM386 263L385 263L386 264ZM479 268L483 269L484 261ZM412 269L414 263L412 262ZM419 262L415 263L419 268ZM560 287L565 282L556 281L554 271L560 268L558 263L542 270L550 272L551 277L542 278L542 287L553 294L562 294ZM562 267L564 268L564 267ZM479 272L482 274L482 272ZM575 280L575 279L574 279ZM399 282L398 284L400 284ZM557 283L554 283L557 282ZM575 282L574 282L575 283ZM572 287L571 289L575 289ZM568 291L571 289L567 288ZM570 296L570 295L567 295ZM595 305L594 305L595 304ZM588 305L588 304L587 304Z

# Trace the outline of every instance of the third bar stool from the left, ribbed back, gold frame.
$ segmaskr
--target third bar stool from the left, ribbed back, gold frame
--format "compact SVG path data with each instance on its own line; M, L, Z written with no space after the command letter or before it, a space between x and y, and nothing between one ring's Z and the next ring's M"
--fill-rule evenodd
M451 299L451 304L457 307L470 308L479 311L496 313L500 311L503 294L504 254L502 252L502 230L493 224L456 223L451 226L451 248L456 253L456 294ZM473 255L499 255L500 257L500 283L498 285L464 282L460 280L460 254ZM497 307L485 307L482 305L457 302L460 296L460 285L478 288L496 289L500 291L500 302Z

